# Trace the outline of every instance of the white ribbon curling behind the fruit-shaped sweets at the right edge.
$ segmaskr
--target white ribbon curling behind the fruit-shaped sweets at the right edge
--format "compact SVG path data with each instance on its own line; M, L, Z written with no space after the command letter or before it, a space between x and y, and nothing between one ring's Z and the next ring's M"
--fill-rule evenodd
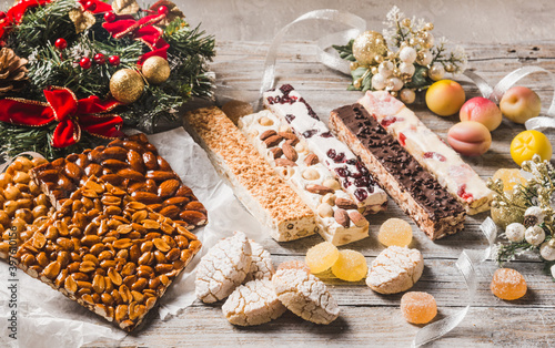
M525 76L535 72L546 73L552 80L552 84L555 86L555 75L539 66L518 68L503 78L495 86L490 85L484 78L470 70L466 70L464 74L478 86L480 93L482 93L484 98L487 98L494 103L498 104L501 99L503 98L503 94L505 94L508 89L511 89L521 79L524 79ZM555 130L555 93L553 94L552 103L547 112L545 113L545 116L529 119L524 123L524 125L526 126L526 130Z

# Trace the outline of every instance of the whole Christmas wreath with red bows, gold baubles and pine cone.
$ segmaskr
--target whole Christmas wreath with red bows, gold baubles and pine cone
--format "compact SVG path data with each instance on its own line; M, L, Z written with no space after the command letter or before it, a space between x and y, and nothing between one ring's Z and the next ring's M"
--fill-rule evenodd
M21 0L0 12L0 152L48 158L212 96L214 40L160 0Z

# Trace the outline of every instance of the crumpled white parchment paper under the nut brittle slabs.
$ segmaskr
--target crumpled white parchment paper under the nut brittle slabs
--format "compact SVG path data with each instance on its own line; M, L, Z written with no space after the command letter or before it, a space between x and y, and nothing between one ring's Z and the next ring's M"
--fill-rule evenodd
M159 153L191 187L209 212L209 224L194 233L203 243L185 272L171 285L160 301L159 318L171 320L194 299L194 267L202 255L220 238L233 231L243 231L253 239L260 239L263 227L235 198L231 188L222 182L204 151L182 129L150 135ZM10 282L7 263L0 262L0 346L2 347L80 347L100 338L110 339L113 347L125 332L109 324L79 304L31 278L18 269L17 282ZM11 290L17 284L17 308L10 308ZM17 340L9 337L11 310L17 309ZM135 329L141 335L141 328Z

